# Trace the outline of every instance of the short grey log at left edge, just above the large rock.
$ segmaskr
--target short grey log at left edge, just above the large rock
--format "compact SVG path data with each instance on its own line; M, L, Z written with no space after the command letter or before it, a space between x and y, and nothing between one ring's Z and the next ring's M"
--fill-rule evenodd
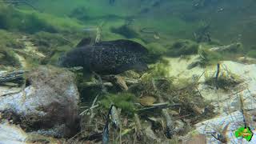
M0 84L5 82L20 82L23 79L24 73L24 70L0 73Z

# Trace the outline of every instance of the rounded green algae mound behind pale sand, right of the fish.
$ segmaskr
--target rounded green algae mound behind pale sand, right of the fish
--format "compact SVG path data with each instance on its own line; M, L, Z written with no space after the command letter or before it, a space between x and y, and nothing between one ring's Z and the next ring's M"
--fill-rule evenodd
M198 44L190 40L179 40L178 42L174 42L173 46L167 50L167 55L172 57L197 53Z

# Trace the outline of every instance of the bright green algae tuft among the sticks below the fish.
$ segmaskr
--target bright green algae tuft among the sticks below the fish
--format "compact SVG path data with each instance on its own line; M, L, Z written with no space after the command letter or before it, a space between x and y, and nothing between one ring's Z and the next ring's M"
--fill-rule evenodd
M135 96L129 93L107 94L102 98L101 104L107 109L112 104L122 109L122 114L133 114L135 111Z

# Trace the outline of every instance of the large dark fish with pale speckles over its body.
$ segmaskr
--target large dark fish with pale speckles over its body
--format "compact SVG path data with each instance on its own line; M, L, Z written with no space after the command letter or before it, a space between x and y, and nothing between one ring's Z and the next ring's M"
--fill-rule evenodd
M99 74L119 74L126 70L146 70L147 50L137 42L116 40L98 42L71 50L62 58L62 66L82 66Z

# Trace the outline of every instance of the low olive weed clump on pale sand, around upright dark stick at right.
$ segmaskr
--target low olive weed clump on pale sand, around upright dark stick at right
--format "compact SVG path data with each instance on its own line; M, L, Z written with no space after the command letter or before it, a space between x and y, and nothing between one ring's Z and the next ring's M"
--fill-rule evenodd
M206 85L222 90L232 90L234 86L242 82L242 78L239 78L238 75L231 73L229 70L221 70L218 77L216 77L215 73L206 72L205 78Z

